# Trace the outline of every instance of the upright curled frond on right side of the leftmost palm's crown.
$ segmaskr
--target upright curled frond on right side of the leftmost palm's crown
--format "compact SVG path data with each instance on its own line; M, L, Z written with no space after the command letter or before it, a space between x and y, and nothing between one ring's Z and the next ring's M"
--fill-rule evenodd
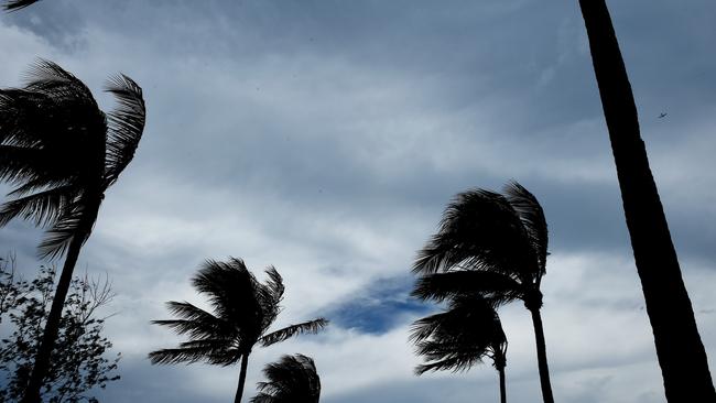
M144 131L147 108L142 88L120 74L109 80L106 90L115 95L119 107L107 115L106 186L113 184L132 161Z

